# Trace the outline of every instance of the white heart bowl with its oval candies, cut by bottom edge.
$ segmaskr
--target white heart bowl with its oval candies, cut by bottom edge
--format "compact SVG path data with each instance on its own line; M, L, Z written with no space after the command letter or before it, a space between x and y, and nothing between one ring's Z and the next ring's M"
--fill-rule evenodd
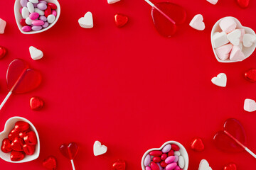
M188 152L176 141L149 149L142 157L142 170L188 170Z

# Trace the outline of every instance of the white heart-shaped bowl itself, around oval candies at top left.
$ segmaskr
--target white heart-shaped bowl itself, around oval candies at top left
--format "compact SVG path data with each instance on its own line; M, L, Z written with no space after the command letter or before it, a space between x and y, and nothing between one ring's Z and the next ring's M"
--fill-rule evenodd
M21 33L23 33L23 34L42 33L44 31L52 28L55 25L55 23L57 23L58 18L60 18L60 4L58 3L57 0L44 0L44 1L53 3L53 4L55 4L57 6L57 9L56 9L57 16L55 18L55 21L53 23L50 23L47 28L43 28L41 30L31 30L29 32L25 32L25 31L21 30L22 26L21 26L20 21L22 19L22 16L21 16L21 13L20 13L20 9L22 8L22 6L20 4L20 0L16 0L15 1L15 4L14 4L14 16L15 16L15 19L16 19L16 23L17 23L18 29L21 31Z

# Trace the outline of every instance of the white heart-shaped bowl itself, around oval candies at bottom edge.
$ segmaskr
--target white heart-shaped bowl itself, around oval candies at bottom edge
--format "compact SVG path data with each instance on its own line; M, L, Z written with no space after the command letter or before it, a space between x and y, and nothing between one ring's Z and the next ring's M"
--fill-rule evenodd
M162 145L160 148L152 148L152 149L147 150L142 157L142 170L146 170L146 167L144 166L144 159L145 159L146 155L149 154L149 152L151 152L151 151L161 150L161 149L163 149L163 147L165 145L168 145L168 144L178 145L178 147L180 148L179 152L181 152L181 155L183 156L183 158L185 160L185 167L183 168L183 170L188 170L188 152L186 152L186 149L185 149L185 147L183 147L183 145L181 145L179 142L176 142L176 141L168 141L168 142L165 142L164 145Z

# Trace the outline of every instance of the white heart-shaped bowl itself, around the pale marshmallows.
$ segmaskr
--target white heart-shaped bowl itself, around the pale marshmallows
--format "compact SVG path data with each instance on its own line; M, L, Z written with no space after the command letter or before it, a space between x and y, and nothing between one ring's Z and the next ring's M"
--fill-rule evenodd
M255 35L254 30L252 30L251 28L242 26L242 24L240 23L240 21L238 21L237 18L234 18L232 16L227 16L227 17L224 17L224 18L233 18L233 19L235 19L235 22L237 23L237 28L244 28L245 29L245 33L250 33L250 34ZM220 29L219 23L224 18L221 18L219 21L217 21L214 24L213 29L211 30L210 41L211 41L212 47L213 47L213 34L216 33L216 32L222 32L222 30ZM245 59L247 57L250 57L250 55L252 55L252 52L254 52L255 47L256 47L256 43L253 43L252 46L250 46L250 47L244 47L244 46L242 47L242 52L245 54ZM215 55L216 59L218 60L218 62L225 62L225 63L238 62L238 61L231 61L231 60L220 60L218 55L215 52L215 48L214 47L213 47L213 52L214 52L214 55Z

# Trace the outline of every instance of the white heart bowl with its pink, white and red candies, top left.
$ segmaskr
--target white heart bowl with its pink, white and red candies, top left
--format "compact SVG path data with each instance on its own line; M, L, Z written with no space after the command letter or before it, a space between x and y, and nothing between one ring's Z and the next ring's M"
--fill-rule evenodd
M21 33L42 33L58 21L60 4L57 0L16 0L14 14Z

